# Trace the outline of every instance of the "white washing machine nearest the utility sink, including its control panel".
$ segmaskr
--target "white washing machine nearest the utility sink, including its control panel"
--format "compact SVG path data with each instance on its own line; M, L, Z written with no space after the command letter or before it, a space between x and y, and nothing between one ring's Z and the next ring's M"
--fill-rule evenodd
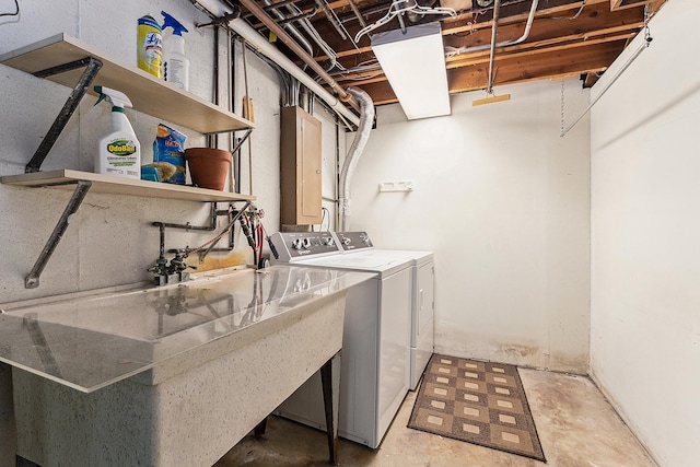
M372 255L371 242L363 233L342 240L351 254L343 254L330 233L277 233L271 241L279 255L277 261L376 273L374 280L348 293L338 417L340 436L376 448L408 393L411 260ZM276 413L324 429L318 380L315 375Z

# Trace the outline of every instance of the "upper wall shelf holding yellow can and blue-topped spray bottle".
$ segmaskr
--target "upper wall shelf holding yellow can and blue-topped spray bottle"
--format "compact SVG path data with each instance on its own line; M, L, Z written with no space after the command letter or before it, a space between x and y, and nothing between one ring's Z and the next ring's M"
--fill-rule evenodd
M0 63L27 73L35 73L89 57L96 58L103 63L93 84L121 91L129 96L136 110L200 133L218 133L255 127L255 124L245 118L159 80L136 66L109 57L65 33L0 55ZM46 77L46 79L73 87L82 72L82 69L75 69ZM89 92L94 94L92 86Z

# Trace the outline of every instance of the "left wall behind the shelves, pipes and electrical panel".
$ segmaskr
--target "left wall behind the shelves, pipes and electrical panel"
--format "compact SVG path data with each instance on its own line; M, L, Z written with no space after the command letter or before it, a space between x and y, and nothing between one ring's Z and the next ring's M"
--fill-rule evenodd
M209 2L211 3L211 2ZM214 2L215 3L215 2ZM137 19L151 14L161 19L165 10L179 19L190 33L186 52L191 60L190 91L212 100L213 32L196 30L208 16L187 0L139 0L95 2L92 0L21 0L21 15L0 17L0 54L65 32L118 59L136 66ZM0 0L0 11L13 11L14 2ZM229 102L226 34L220 34L221 97ZM235 51L235 109L241 114L245 94L241 47ZM256 129L252 135L253 192L256 205L266 211L268 233L279 230L279 106L277 73L253 52L247 52L248 90L255 104ZM98 84L96 82L95 84ZM0 176L21 174L46 130L63 105L70 90L36 79L0 65ZM107 131L109 107L93 107L96 98L88 96L71 118L43 170L78 168L92 171L93 148ZM323 125L324 195L335 194L336 126L319 104L316 118ZM152 141L160 120L127 110L143 150L143 163L152 159ZM203 145L205 138L178 128L188 136L187 147ZM229 148L228 138L219 145ZM341 141L345 145L345 140ZM242 192L247 194L248 147L243 150ZM201 224L207 222L209 205L139 197L89 194L74 215L52 258L40 278L40 287L24 289L24 277L63 211L70 192L51 189L26 189L0 185L0 307L9 302L85 291L96 288L150 280L147 269L159 254L159 231L153 221ZM327 203L328 205L328 203ZM332 208L332 203L328 206ZM223 221L221 221L223 222ZM167 231L166 247L196 246L210 234ZM249 260L250 250L236 230L234 255L219 256L222 265ZM217 257L215 255L212 258ZM192 258L194 262L196 259ZM0 466L14 465L14 428L11 410L9 367L0 364Z

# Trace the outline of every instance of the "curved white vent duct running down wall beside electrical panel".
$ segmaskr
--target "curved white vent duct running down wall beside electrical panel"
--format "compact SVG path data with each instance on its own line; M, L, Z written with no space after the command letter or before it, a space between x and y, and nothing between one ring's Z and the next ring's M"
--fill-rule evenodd
M374 122L374 103L372 97L359 87L348 87L348 93L360 104L360 124L358 131L354 135L354 140L348 151L346 161L342 164L342 172L340 173L340 225L339 231L347 231L349 229L348 215L350 215L350 183L352 180L352 174L354 167L358 165L358 160L364 151L364 145L370 139L370 131Z

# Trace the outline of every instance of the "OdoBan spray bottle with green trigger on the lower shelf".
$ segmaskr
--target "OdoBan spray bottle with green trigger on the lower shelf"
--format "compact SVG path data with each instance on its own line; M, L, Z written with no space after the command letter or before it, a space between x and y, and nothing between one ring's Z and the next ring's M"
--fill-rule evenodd
M100 100L112 103L112 131L105 135L97 144L95 172L128 178L141 178L141 144L124 107L131 107L126 94L105 86L95 86Z

